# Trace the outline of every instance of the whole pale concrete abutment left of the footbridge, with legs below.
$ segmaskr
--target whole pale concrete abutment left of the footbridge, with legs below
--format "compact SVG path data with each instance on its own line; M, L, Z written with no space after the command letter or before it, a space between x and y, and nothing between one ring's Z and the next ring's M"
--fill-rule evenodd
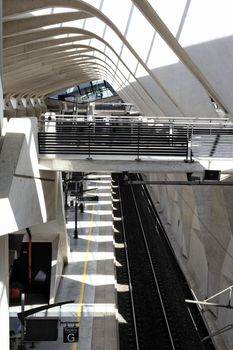
M56 296L64 263L69 260L61 174L39 170L36 118L12 118L0 152L0 322L4 349L9 343L8 233L25 233L33 241L52 242L50 302Z

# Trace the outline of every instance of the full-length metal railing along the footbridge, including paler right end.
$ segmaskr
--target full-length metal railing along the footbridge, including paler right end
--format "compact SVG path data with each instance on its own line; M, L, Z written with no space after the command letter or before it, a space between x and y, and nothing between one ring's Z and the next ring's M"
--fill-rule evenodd
M233 125L142 117L50 116L40 120L40 154L233 158Z

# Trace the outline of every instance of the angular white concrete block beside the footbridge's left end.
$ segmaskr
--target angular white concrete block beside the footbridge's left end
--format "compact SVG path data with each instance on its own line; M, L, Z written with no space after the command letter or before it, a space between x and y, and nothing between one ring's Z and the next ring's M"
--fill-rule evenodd
M35 118L8 123L0 153L0 235L55 218L55 177L38 169L35 132Z

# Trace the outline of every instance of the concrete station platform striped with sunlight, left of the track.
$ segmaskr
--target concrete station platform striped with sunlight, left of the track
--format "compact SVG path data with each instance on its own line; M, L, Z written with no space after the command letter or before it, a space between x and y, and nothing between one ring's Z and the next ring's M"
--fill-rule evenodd
M35 342L38 350L118 349L111 177L101 174L98 178L88 181L87 188L98 188L91 195L99 200L86 203L84 213L78 212L78 239L73 238L74 209L67 212L71 261L63 271L55 302L75 302L36 314L59 318L58 340ZM78 342L64 343L66 326L78 326ZM26 349L31 345L26 343Z

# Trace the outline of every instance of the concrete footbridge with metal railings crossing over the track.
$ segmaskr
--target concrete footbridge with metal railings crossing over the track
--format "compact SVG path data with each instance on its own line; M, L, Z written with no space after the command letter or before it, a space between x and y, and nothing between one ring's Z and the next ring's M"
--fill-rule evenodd
M220 162L229 171L233 160L227 118L46 114L38 130L40 166L47 170L199 172Z

